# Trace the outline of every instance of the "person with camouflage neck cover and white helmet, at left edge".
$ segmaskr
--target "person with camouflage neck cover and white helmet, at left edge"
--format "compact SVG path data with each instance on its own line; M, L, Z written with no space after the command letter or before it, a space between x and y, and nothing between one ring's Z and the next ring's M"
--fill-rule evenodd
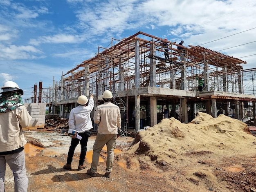
M14 176L14 192L26 192L24 145L27 143L22 128L28 127L31 116L23 105L22 89L13 82L7 81L1 87L0 96L0 191L4 192L4 175L6 163Z

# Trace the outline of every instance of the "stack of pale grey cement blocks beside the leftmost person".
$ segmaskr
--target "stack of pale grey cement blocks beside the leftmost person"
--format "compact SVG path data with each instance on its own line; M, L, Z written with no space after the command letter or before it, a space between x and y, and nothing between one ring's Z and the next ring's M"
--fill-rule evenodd
M46 103L24 103L32 117L29 126L25 130L45 127Z

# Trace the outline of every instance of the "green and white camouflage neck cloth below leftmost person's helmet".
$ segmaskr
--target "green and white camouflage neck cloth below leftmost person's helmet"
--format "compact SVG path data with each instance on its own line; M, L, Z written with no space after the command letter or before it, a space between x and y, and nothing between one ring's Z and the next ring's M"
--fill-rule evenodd
M6 113L24 105L20 93L8 92L0 96L0 113Z

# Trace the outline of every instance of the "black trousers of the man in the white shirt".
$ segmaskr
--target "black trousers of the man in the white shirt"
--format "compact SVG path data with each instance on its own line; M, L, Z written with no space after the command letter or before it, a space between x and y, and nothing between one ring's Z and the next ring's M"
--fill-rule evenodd
M79 165L83 165L85 161L85 155L87 151L87 142L88 142L88 136L85 133L79 133L79 135L82 137L81 140L78 138L72 138L71 139L71 144L70 144L70 149L68 150L67 154L67 164L71 164L74 156L74 152L76 149L76 146L80 142L81 145L81 153L80 153L80 158L79 158Z

